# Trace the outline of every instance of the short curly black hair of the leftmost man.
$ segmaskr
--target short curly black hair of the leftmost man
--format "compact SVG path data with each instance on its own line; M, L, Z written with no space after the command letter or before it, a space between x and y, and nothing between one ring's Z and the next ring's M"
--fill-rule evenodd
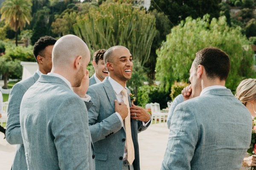
M40 37L39 40L35 42L33 54L37 62L38 62L37 56L38 55L43 56L44 54L42 53L44 53L45 48L49 45L54 45L56 41L57 40L53 37L44 36L44 37Z

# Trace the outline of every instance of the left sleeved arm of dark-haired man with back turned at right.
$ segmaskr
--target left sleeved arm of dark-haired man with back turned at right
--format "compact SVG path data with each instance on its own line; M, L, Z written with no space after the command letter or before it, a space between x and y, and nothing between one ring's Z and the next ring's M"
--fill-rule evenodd
M199 133L195 115L186 105L178 105L172 117L161 170L190 170Z

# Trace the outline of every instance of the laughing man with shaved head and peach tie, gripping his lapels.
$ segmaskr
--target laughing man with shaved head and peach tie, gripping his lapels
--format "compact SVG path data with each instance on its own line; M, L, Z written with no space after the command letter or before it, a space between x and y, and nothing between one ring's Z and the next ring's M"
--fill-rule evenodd
M96 170L140 170L137 133L148 127L151 116L128 97L132 56L124 46L113 46L105 52L104 62L109 77L87 91L93 101L88 116Z

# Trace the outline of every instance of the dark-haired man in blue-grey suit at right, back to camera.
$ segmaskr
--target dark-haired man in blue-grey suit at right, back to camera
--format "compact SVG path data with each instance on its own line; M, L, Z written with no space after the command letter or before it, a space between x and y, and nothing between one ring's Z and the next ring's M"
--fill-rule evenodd
M239 170L250 145L252 119L225 88L229 71L224 51L198 51L189 79L192 96L198 91L200 96L175 108L161 170Z

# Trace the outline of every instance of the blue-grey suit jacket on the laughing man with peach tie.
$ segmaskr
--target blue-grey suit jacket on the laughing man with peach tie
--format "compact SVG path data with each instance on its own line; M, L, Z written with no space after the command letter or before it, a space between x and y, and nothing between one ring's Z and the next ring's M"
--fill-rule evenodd
M125 148L125 130L115 113L116 95L108 77L103 82L90 86L87 94L92 97L93 101L88 116L95 149L96 170L121 170ZM131 106L130 99L129 102ZM137 133L146 128L141 121L131 119L131 134L135 151L134 170L140 170Z

